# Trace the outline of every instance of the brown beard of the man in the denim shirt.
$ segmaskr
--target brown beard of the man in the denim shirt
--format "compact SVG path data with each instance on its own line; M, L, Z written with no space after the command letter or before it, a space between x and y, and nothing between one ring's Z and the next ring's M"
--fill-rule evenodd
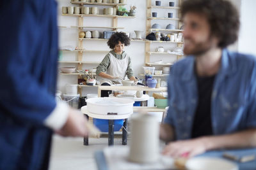
M186 48L186 45L184 45L184 54L185 55L196 55L200 56L209 51L212 48L213 41L212 37L210 36L206 41L196 43L192 39L189 39L193 43L193 48Z

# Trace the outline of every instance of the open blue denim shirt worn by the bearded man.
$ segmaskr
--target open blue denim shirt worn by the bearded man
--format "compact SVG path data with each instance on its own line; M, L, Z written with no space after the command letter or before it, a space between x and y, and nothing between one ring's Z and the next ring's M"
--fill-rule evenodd
M164 123L175 129L175 139L191 138L198 102L195 57L172 66L168 77L169 110ZM209 113L205 113L209 114ZM256 58L223 49L221 67L211 96L212 132L228 134L256 127Z

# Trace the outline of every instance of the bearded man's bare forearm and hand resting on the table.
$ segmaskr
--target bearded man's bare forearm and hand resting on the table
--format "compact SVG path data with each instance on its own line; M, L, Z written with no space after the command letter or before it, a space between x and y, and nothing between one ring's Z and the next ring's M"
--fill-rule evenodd
M193 157L208 150L221 148L256 147L256 129L248 129L234 134L204 136L201 138L175 141L163 150L164 155L172 157Z

